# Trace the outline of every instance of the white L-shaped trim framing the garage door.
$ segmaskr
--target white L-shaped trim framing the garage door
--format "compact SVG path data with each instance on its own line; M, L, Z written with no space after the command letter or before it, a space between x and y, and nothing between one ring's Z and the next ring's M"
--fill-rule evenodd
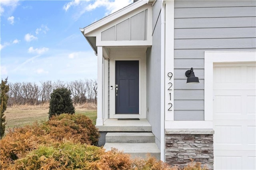
M204 120L213 121L214 63L256 62L256 51L204 52ZM211 123L212 124L212 123ZM213 127L212 127L213 128Z

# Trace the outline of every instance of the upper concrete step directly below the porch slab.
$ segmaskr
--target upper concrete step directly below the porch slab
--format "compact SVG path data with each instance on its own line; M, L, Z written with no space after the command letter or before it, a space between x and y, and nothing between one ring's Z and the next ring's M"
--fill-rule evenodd
M106 143L154 143L152 132L108 132Z

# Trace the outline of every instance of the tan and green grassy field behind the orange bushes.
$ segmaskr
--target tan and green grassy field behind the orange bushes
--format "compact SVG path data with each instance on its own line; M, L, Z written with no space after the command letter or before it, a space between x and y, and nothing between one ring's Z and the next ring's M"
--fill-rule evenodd
M93 124L96 124L97 110L95 108L86 109L82 106L75 106L75 114L82 114L88 116ZM7 107L4 115L6 116L6 130L8 128L23 127L24 125L31 125L35 121L48 120L49 105L18 105Z

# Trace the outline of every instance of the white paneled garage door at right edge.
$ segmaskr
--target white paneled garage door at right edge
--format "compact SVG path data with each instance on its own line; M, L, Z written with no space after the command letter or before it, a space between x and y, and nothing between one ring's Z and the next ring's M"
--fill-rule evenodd
M214 65L214 169L256 169L255 65Z

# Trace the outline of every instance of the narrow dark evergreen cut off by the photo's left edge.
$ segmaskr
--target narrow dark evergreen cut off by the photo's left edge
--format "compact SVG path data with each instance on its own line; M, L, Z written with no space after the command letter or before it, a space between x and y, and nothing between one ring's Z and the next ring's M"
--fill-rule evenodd
M7 107L7 101L8 101L8 93L9 91L9 85L7 85L7 78L3 81L1 81L1 91L0 91L0 138L4 136L5 131L5 116L4 111Z

